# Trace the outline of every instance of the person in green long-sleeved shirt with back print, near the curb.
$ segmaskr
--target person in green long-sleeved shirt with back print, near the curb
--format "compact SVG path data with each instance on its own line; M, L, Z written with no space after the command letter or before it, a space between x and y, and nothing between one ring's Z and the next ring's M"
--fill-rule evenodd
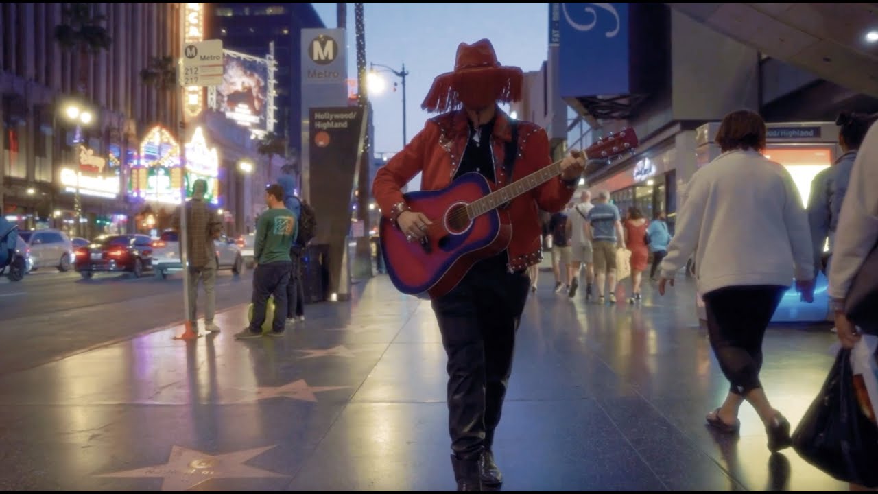
M269 185L265 189L265 202L269 208L259 216L256 224L253 258L253 318L244 331L234 338L259 338L263 336L265 306L274 296L275 316L271 325L272 336L284 335L286 319L286 285L290 282L290 243L296 218L284 207L284 188Z

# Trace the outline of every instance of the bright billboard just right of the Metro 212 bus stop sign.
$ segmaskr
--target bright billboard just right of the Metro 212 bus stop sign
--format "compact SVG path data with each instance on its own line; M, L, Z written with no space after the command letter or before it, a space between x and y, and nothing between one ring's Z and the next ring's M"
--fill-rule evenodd
M273 57L259 58L223 50L223 82L208 89L213 110L226 114L241 127L263 135L274 130Z

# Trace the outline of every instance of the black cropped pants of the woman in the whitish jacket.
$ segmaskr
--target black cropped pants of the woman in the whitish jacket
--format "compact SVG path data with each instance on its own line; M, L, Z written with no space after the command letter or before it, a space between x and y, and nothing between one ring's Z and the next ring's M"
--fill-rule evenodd
M787 287L724 287L704 294L710 346L731 384L746 396L761 388L762 338Z

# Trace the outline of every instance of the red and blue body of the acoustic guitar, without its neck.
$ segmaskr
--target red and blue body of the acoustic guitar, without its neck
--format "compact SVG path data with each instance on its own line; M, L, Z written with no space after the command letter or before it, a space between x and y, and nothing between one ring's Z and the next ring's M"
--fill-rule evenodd
M506 250L512 225L505 209L494 209L470 219L465 207L493 192L479 173L465 173L439 191L407 193L413 211L433 224L422 242L408 242L406 235L381 218L381 248L393 285L404 294L447 294L472 265Z

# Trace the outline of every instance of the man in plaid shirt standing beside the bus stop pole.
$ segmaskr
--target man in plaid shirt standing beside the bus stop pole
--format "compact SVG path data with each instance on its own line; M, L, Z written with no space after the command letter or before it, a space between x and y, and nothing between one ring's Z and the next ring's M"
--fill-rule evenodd
M213 323L213 315L216 312L216 287L217 258L216 248L213 241L222 233L222 222L208 204L205 202L207 193L207 181L198 178L192 184L192 199L186 203L186 255L189 261L189 320L192 330L198 332L198 281L205 286L207 304L205 307L205 331L219 332L219 328ZM174 219L174 228L180 231L180 213L177 210ZM181 244L182 249L182 244Z

